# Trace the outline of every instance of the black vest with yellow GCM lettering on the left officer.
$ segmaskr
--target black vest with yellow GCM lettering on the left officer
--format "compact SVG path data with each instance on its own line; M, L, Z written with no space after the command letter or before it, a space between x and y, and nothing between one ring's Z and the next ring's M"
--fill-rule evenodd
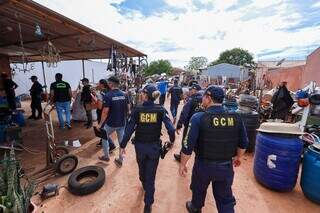
M158 143L165 110L160 105L154 107L138 106L135 110L137 122L135 141L140 143Z

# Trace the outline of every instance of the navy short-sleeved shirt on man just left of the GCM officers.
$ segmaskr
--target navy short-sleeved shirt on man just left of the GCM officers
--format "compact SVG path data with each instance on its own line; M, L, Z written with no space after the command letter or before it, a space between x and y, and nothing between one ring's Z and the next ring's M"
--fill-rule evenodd
M106 124L110 127L123 127L128 113L128 98L119 89L110 90L103 96L104 107L109 108Z

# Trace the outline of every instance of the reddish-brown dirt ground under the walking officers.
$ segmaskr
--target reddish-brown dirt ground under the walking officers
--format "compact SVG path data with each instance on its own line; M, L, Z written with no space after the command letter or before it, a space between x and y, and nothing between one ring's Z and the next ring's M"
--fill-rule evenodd
M182 105L180 105L180 108ZM43 149L46 141L43 124L39 121L28 121L27 125L33 129L23 132L26 145L34 146L37 149ZM85 143L94 138L92 130L85 130L82 124L73 124L73 129L57 131L58 141L65 139L80 139ZM36 129L36 131L35 131ZM59 132L59 133L58 133ZM163 140L167 139L164 132ZM41 202L38 196L34 201L39 205L39 212L61 213L138 213L143 212L143 190L138 179L138 167L135 160L134 147L131 144L127 146L127 154L122 168L117 168L113 163L117 152L111 156L109 163L103 163L98 160L102 151L95 146L98 139L87 142L78 150L79 166L99 165L105 169L106 182L97 192L87 196L74 196L65 188L60 189L60 194ZM153 212L155 213L181 213L187 212L185 202L190 200L191 191L189 190L191 169L193 160L188 164L189 175L182 178L178 174L178 163L173 159L173 153L180 149L181 136L178 136L174 148L167 154L164 160L160 160L157 178L155 203ZM27 144L30 143L30 144ZM26 167L39 167L43 162L43 155L31 156L23 153L19 155ZM233 192L237 200L235 207L239 213L317 213L320 212L320 206L307 200L300 188L299 180L292 192L279 193L274 192L257 183L253 175L253 156L247 154L242 165L235 168L235 178ZM50 183L59 183L67 185L68 176L51 179ZM204 213L217 212L215 202L212 196L212 190L209 188L206 198Z

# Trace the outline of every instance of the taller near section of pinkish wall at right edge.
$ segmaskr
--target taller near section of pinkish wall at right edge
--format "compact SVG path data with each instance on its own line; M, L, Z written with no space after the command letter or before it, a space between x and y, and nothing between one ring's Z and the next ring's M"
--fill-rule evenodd
M302 76L302 84L306 86L310 81L316 81L320 86L320 47L307 57L306 68Z

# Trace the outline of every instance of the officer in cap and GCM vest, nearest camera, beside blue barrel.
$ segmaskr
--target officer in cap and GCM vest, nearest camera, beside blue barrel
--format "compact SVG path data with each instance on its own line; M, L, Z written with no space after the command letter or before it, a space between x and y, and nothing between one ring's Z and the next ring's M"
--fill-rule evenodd
M223 98L221 88L210 86L206 89L202 98L206 111L192 116L183 143L181 176L187 174L186 164L192 151L196 154L190 185L192 200L186 203L188 212L201 212L211 182L218 212L234 212L236 200L231 189L233 165L240 166L248 138L240 116L222 107Z

